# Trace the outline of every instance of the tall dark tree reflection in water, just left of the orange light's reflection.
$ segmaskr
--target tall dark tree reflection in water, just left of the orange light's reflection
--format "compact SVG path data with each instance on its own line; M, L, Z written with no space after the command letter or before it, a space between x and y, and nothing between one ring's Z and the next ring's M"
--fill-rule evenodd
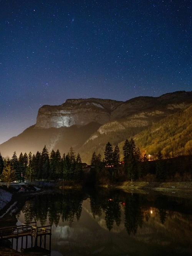
M125 200L125 228L128 234L136 234L138 226L142 226L143 216L138 194L127 195Z

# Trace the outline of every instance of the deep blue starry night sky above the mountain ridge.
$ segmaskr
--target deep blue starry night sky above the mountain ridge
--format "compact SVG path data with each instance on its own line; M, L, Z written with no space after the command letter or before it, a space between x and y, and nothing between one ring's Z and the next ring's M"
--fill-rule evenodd
M0 143L68 98L191 91L190 0L0 0Z

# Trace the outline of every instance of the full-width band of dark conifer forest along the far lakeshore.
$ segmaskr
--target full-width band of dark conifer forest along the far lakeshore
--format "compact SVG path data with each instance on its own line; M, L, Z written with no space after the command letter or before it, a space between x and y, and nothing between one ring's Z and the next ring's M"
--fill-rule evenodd
M7 182L53 181L71 182L84 186L114 184L131 181L191 181L192 157L178 156L163 159L161 151L157 152L156 160L150 160L136 148L134 140L125 140L122 156L118 146L108 142L104 148L104 157L93 152L91 165L82 163L79 153L73 147L61 156L60 151L52 150L50 155L46 146L42 152L14 152L12 158L3 158L0 154L0 179ZM152 156L151 156L152 157ZM120 161L120 158L123 161Z

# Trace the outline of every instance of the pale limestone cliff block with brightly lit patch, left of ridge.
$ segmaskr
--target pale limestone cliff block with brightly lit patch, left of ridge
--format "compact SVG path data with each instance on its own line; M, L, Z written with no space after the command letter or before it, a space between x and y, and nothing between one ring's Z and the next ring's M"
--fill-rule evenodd
M91 122L104 124L111 120L111 111L121 101L103 99L70 99L60 106L42 106L38 111L36 128L60 128L87 125Z

